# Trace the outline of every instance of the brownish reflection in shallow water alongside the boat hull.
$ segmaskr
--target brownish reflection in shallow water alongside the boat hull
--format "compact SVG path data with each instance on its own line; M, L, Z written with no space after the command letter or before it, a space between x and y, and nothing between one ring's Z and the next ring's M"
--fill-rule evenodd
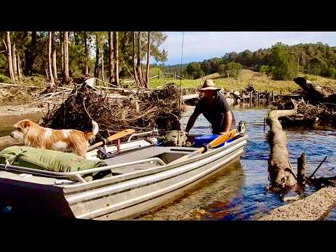
M209 179L202 181L186 193L181 193L173 202L167 202L150 214L139 216L141 220L186 220L211 218L209 214L225 216L226 209L232 209L228 199L239 197L239 189L244 185L244 171L240 161L224 167ZM217 209L212 204L218 204ZM215 206L215 205L214 205Z

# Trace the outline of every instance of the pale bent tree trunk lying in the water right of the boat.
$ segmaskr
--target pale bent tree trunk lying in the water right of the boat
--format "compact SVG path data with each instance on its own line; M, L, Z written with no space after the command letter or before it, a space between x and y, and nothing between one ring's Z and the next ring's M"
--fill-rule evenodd
M292 101L293 102L293 101ZM296 184L290 165L288 163L288 151L286 147L286 133L283 132L279 118L295 116L297 104L291 110L274 110L268 113L266 123L269 125L269 144L271 153L268 160L270 185L274 191L286 190Z

